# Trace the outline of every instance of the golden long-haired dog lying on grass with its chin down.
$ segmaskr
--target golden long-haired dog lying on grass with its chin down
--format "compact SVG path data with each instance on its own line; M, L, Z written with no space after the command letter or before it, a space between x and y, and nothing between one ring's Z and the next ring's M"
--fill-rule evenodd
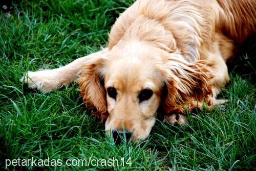
M114 23L108 47L21 80L48 92L77 81L86 107L114 137L148 137L164 121L186 125L187 111L225 103L226 62L255 34L256 1L138 0Z

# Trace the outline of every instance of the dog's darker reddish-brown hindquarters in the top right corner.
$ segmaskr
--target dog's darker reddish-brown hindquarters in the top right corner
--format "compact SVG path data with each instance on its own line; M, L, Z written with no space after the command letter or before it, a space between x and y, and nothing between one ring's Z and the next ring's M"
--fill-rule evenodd
M241 45L256 33L256 1L218 0L222 33Z

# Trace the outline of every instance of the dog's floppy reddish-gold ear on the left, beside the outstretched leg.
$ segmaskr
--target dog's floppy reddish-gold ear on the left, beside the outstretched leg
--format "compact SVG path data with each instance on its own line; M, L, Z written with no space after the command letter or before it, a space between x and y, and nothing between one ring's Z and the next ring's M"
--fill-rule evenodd
M80 94L86 103L86 108L101 121L105 121L107 114L106 93L104 89L104 58L85 64L79 76Z

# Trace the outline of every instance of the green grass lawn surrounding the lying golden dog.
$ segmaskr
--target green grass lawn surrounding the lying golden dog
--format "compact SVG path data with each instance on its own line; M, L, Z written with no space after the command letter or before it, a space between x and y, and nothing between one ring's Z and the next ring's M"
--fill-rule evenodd
M255 170L255 43L230 69L230 84L221 94L229 100L224 109L201 111L188 127L157 121L140 143L115 145L106 137L104 126L84 109L76 84L46 94L23 90L19 78L26 71L65 65L105 46L115 18L132 2L23 1L16 4L22 16L0 12L1 170L5 159L18 157L131 157L132 165L10 170Z

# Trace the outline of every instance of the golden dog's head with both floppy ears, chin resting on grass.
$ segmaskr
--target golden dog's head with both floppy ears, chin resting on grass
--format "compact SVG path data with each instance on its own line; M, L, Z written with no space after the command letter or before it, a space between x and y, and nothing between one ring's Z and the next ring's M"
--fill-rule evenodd
M79 85L108 134L125 131L136 141L150 134L159 107L184 112L190 97L202 101L211 93L208 68L202 61L189 64L180 54L131 42L84 65Z

